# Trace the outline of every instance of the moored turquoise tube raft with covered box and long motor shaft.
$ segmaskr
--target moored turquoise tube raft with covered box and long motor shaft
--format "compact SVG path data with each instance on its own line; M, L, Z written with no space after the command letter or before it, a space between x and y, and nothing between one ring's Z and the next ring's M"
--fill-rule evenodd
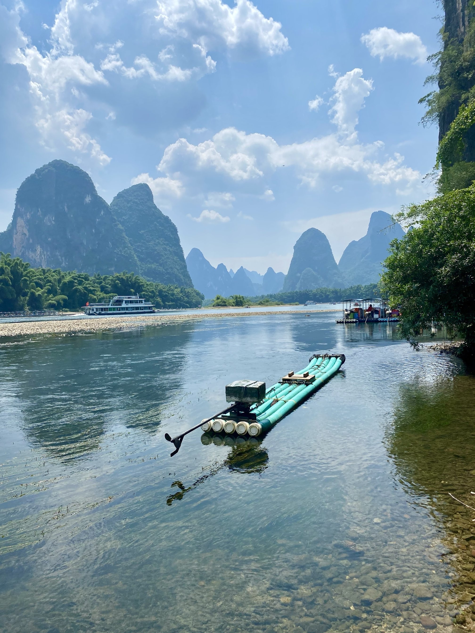
M227 408L176 437L165 433L165 439L175 446L170 456L178 453L187 434L200 427L205 432L262 436L337 373L344 362L345 354L314 354L307 367L289 372L267 390L265 382L235 380L226 385L226 401L232 403Z

